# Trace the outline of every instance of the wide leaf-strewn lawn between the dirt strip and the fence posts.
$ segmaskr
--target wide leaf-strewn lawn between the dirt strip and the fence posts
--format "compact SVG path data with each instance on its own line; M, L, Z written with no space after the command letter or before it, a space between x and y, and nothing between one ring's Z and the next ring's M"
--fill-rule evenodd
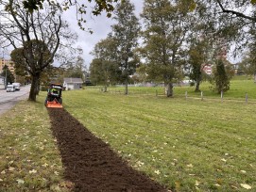
M66 110L94 135L171 189L256 189L254 103L125 96L92 88L66 91L63 98Z

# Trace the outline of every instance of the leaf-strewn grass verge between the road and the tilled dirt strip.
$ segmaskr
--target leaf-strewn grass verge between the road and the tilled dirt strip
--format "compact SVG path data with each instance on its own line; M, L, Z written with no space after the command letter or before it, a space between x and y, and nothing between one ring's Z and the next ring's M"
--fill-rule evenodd
M47 110L23 101L0 117L0 191L68 191Z

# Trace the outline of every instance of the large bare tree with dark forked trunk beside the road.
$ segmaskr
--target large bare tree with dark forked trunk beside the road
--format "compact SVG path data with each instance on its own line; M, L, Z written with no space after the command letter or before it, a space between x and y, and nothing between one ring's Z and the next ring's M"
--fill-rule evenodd
M53 63L60 40L74 37L61 20L59 5L28 11L18 0L1 1L0 38L2 46L22 50L25 70L32 78L28 100L36 101L42 72ZM62 42L64 42L63 40ZM45 54L47 56L45 56ZM16 63L19 65L19 63Z

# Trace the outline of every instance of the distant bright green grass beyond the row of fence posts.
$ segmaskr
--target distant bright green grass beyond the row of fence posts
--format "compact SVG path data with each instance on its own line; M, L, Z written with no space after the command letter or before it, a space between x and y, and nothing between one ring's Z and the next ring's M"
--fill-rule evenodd
M224 99L236 99L236 100L246 100L246 93L248 101L256 101L256 84L251 79L252 77L247 76L235 76L233 80L230 81L230 90L224 93ZM209 82L202 82L200 85L200 90L203 92L205 99L220 99L220 94L213 92L211 89L213 85ZM101 87L86 87L87 89L100 91ZM125 88L123 87L111 87L109 92L112 94L123 94ZM180 86L174 87L174 97L185 98L185 92L187 91L188 97L200 98L201 92L195 92L195 87L190 86ZM164 88L146 88L146 87L130 87L128 88L128 93L130 95L163 95Z

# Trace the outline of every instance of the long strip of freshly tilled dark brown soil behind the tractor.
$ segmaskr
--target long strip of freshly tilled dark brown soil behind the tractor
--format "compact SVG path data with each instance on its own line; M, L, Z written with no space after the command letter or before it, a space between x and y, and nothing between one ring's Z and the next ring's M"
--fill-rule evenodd
M74 191L167 191L136 171L64 109L49 108L64 177Z

